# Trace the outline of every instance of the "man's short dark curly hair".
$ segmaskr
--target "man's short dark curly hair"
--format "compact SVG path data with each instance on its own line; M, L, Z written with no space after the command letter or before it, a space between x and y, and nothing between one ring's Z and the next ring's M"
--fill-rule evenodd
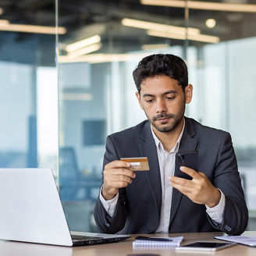
M140 92L140 84L146 78L158 75L177 80L185 91L188 84L187 65L180 57L171 54L155 54L141 59L137 68L133 70L137 91Z

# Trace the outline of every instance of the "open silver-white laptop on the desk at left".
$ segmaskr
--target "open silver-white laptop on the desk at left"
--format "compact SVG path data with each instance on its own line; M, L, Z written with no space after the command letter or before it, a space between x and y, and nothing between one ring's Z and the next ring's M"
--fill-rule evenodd
M51 169L0 169L0 239L79 246L130 236L69 231Z

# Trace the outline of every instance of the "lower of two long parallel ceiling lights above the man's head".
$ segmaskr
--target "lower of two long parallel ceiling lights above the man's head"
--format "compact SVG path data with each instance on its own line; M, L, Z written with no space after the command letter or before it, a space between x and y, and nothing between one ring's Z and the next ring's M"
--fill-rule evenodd
M155 30L148 30L148 35L153 37L167 37L178 40L191 40L191 41L201 41L204 43L219 43L219 37L208 36L207 34L175 34L175 33L165 33Z

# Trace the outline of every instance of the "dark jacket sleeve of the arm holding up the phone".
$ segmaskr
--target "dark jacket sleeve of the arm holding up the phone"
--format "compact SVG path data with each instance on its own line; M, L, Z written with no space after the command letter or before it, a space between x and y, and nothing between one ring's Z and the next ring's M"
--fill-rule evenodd
M222 137L213 185L225 194L226 204L222 223L217 224L208 217L209 221L215 229L229 235L240 235L247 227L248 210L229 133Z

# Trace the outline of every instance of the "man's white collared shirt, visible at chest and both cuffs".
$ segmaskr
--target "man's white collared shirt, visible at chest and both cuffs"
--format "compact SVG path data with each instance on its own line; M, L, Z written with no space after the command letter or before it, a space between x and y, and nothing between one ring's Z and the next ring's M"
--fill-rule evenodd
M175 146L171 151L165 151L163 145L158 137L155 136L154 131L151 128L152 135L155 140L155 145L158 153L158 162L161 176L161 184L162 184L162 205L161 205L161 214L160 214L160 222L158 228L155 230L155 233L169 233L169 219L170 219L170 211L172 205L172 186L169 183L168 176L173 176L175 171L175 155L176 152L179 151L180 140L183 136L183 131L185 127L185 122L183 125L183 130L180 133L180 137L176 141ZM102 187L101 187L102 190ZM114 215L116 211L116 204L118 201L119 193L116 194L116 197L111 200L106 201L104 197L102 197L100 190L100 201L103 207L105 208L108 215L111 217ZM213 208L209 208L206 206L206 212L208 215L217 223L222 222L222 215L225 208L225 195L221 192L221 199L219 204L217 204Z

